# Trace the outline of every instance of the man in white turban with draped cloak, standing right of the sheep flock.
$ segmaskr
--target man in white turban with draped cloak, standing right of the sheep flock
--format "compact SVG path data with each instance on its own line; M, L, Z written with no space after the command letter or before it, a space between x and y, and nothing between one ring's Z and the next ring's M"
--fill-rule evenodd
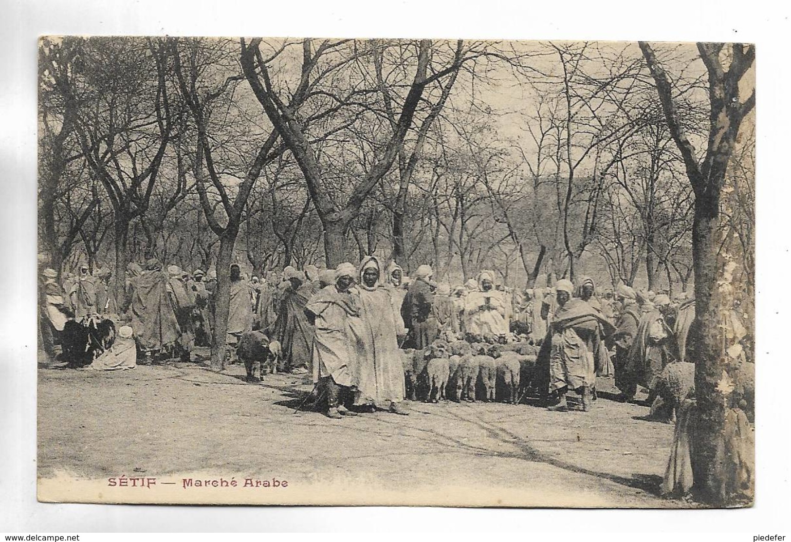
M592 390L596 386L597 346L602 335L609 335L612 326L604 316L587 301L572 298L574 286L566 279L555 285L556 301L551 324L550 389L559 404L552 410L566 411L566 393L573 391L581 396L582 410L591 407ZM604 329L603 329L604 328Z

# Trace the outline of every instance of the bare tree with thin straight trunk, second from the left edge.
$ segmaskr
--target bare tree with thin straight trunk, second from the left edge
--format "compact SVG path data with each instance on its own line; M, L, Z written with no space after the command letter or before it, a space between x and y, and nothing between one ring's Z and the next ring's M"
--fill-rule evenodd
M113 210L114 294L123 292L129 226L149 208L174 127L161 40L89 38L81 78L93 91L77 132ZM142 222L141 222L142 223ZM116 300L120 301L120 300Z

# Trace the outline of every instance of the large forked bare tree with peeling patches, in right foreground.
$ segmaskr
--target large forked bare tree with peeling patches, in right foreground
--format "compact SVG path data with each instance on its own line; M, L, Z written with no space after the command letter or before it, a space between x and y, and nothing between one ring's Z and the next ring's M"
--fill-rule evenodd
M755 60L755 46L698 44L709 78L710 104L710 129L702 158L698 157L679 118L670 75L653 47L641 42L640 48L656 82L668 127L694 191L692 260L696 325L690 342L694 345L699 420L695 424L692 450L694 489L706 502L728 505L739 498L751 498L753 490L732 487L733 480L718 460L718 443L729 431L726 414L737 378L736 364L726 352L734 339L723 325L725 315L733 307L732 289L717 284L728 271L730 260L729 254L721 252L721 195L740 127L755 107L754 78L748 75ZM743 100L744 92L747 98Z

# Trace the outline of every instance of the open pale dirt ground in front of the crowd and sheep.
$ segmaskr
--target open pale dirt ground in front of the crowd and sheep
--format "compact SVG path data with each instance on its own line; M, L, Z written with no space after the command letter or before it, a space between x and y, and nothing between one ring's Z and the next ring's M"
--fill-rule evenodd
M530 491L543 506L689 506L658 495L672 426L608 400L611 381L598 386L605 397L588 413L407 401L408 416L335 420L293 413L312 388L302 377L249 384L243 366L214 373L201 360L108 372L40 361L39 476L274 473L292 484Z

